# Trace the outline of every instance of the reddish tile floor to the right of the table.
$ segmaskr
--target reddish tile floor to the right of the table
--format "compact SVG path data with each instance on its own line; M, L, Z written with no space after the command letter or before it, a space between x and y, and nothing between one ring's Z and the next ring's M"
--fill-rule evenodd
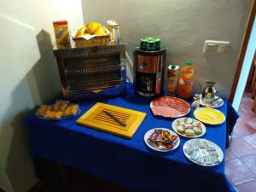
M239 192L256 191L256 113L252 94L245 91L230 148L226 149L225 174Z

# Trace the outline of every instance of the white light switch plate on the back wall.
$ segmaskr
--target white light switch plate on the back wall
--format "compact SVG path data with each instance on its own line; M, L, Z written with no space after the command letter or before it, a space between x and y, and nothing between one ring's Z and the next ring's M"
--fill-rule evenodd
M230 42L206 40L204 47L205 55L227 55L230 50Z

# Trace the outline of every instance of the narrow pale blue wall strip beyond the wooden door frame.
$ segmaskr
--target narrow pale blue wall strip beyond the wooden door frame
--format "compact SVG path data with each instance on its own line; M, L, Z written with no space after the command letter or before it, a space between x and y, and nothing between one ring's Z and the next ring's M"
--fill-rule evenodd
M247 45L246 55L244 57L242 67L241 67L241 74L238 80L238 84L236 86L236 94L234 96L234 101L232 103L233 108L238 111L241 97L247 85L247 78L250 71L250 67L252 65L253 56L256 49L256 17L254 18L252 32L249 38L249 42Z

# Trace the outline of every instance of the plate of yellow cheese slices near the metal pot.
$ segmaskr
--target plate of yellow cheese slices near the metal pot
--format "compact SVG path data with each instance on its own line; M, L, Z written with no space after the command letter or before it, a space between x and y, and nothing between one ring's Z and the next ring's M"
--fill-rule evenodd
M214 108L196 108L194 116L196 119L209 125L222 124L226 119L224 113Z

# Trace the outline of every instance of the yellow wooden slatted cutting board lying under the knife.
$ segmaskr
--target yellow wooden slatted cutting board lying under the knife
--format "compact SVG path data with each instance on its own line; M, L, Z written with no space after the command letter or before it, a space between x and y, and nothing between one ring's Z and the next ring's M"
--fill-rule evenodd
M104 111L112 113L116 118L125 122L126 125L120 125ZM77 124L113 133L120 137L131 138L146 115L147 113L97 102L77 120Z

